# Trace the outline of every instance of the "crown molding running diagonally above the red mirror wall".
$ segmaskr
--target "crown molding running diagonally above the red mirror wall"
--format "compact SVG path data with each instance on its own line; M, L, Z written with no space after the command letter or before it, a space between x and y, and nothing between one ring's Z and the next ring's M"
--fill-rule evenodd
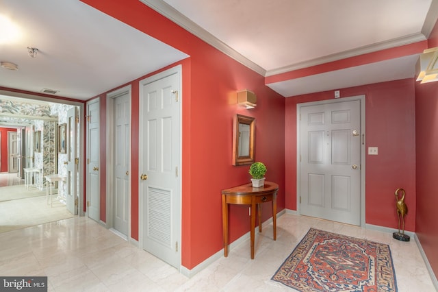
M259 73L260 75L265 76L265 69L255 64L255 62L244 57L242 54L235 51L235 49L229 47L229 45L225 44L224 42L207 32L205 29L188 19L188 17L181 14L181 12L170 6L168 3L162 0L140 0L140 2L144 3L144 5L149 6L149 8L152 8L159 14L162 14L167 19L170 19L170 21L173 21L177 25L183 27L183 29L187 30L194 36L201 38L201 40L207 42L207 44L215 47L219 51L222 51L222 53L233 58L237 62L240 62L244 66L247 66L249 69Z

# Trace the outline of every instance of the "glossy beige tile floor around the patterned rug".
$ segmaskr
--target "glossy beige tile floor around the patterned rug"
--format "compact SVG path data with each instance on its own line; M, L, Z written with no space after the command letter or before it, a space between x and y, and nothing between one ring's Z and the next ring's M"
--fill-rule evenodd
M435 291L415 241L391 234L285 214L256 232L255 259L243 241L192 278L181 275L86 217L0 234L1 276L48 276L49 291L294 291L270 280L310 227L387 243L398 291Z

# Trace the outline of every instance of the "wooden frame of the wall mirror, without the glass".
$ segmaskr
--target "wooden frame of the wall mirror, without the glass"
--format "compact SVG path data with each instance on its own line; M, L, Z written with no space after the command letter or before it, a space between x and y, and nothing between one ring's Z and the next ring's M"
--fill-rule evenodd
M239 155L239 126L249 125L249 149L248 156ZM233 119L233 165L250 165L254 162L254 141L255 141L255 118L246 117L242 114L235 114Z

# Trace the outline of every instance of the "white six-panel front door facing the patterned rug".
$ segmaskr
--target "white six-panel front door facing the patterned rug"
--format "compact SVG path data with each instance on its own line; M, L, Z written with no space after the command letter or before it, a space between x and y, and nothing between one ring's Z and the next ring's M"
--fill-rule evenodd
M300 213L361 223L361 101L300 106Z

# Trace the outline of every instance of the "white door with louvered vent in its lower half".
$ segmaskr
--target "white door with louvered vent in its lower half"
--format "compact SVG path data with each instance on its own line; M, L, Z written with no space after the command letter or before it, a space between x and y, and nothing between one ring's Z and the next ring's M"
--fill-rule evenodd
M181 66L140 82L142 247L177 268L181 261L180 106Z

